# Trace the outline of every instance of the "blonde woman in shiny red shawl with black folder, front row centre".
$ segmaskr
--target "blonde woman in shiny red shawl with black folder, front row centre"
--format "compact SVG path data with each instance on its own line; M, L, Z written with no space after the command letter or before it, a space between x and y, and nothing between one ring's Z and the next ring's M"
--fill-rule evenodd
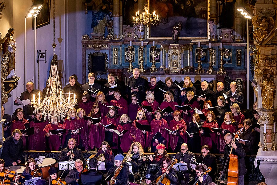
M145 130L139 130L136 126L137 123L140 125L150 125L149 122L146 120L143 110L138 111L136 120L133 121L133 124L131 126L129 138L133 142L140 142L144 150L147 151L147 148L150 146L149 135L151 133L146 132Z

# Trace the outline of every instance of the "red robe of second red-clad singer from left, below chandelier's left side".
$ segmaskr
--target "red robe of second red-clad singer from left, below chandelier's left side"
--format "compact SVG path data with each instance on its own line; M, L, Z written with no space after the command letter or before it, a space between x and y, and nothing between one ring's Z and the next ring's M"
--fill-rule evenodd
M43 122L43 117L41 121L38 121L35 118L34 121L30 122L29 127L34 127L34 134L29 136L29 150L42 151L46 149L43 129L46 127L47 124L49 124L47 121Z

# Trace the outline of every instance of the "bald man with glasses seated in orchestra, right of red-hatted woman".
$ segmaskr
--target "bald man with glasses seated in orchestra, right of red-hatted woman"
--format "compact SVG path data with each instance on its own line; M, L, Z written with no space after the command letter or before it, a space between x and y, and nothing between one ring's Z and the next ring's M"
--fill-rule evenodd
M194 153L192 153L192 152L190 152L188 150L187 144L183 143L181 145L180 151L175 154L175 159L178 160L178 163L179 162L181 162L181 163L187 163L188 170L184 171L184 170L180 169L180 171L182 171L184 176L185 176L184 182L181 182L181 184L187 184L189 182L190 178L193 176L193 171L192 171L193 169L191 168L190 160L189 159L191 159L192 161L196 162L195 155L194 155Z

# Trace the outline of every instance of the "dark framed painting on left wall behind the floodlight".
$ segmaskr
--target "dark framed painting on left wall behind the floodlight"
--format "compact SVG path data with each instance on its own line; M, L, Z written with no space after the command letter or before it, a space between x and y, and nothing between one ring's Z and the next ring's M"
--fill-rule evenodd
M33 0L33 5L43 4L37 16L37 28L50 24L50 7L51 0ZM34 30L34 18L33 18L33 30Z

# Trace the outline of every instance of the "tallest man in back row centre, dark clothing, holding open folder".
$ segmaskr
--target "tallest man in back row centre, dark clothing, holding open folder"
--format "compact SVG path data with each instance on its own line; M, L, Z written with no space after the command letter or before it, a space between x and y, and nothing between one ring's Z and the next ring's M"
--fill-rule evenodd
M127 86L128 85L128 86ZM147 85L147 81L139 76L139 69L134 68L133 76L128 78L126 81L126 97L128 98L128 103L131 103L131 95L136 94L138 97L138 102L141 103L145 100L145 89L144 87ZM130 87L129 87L130 86ZM140 86L139 88L136 88ZM131 88L133 87L133 88Z

